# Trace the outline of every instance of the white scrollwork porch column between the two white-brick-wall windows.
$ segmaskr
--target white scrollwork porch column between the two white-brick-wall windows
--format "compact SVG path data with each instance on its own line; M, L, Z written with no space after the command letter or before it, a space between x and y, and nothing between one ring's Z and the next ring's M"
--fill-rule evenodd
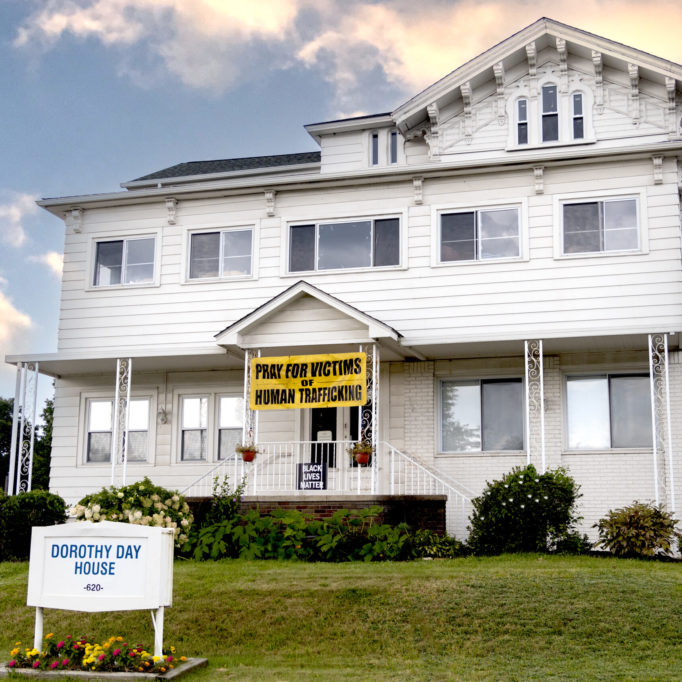
M524 342L526 367L526 461L547 469L545 455L545 387L542 339Z

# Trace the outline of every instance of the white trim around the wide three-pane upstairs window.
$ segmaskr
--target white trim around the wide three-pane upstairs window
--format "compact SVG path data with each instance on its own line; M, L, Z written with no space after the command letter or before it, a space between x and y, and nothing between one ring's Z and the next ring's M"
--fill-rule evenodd
M300 279L305 277L326 277L329 275L338 275L346 272L384 272L386 270L407 270L407 209L402 211L394 210L379 210L368 214L366 211L347 211L342 217L338 216L306 216L301 218L291 218L282 221L281 243L285 245L282 249L282 258L280 262L280 277ZM361 266L357 268L334 268L329 270L298 270L296 272L289 271L289 262L291 258L291 240L290 229L297 225L320 225L322 223L352 223L360 220L386 220L388 218L397 218L399 221L398 234L400 237L400 244L398 249L399 263L398 265L370 265Z

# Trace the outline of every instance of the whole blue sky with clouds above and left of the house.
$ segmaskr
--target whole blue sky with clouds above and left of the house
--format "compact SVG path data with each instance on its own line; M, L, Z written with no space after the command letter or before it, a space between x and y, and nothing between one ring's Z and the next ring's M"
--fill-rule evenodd
M6 354L57 350L64 225L36 199L316 150L303 125L391 111L542 16L682 63L679 0L0 0L0 397Z

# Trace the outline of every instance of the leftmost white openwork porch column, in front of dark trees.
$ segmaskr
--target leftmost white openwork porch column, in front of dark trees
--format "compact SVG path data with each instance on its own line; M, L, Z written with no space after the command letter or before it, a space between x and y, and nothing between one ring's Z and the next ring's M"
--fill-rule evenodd
M8 495L31 490L37 400L38 363L17 363L12 439L9 451Z

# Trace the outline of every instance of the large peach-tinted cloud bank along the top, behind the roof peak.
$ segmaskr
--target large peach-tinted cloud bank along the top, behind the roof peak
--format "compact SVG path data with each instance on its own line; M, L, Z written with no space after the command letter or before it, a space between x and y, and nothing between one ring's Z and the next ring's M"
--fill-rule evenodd
M138 83L144 69L160 67L210 92L307 67L334 88L336 108L385 110L544 11L528 0L46 0L15 45L49 49L67 35L94 38L125 48L120 72ZM549 14L682 62L677 0L558 0Z

